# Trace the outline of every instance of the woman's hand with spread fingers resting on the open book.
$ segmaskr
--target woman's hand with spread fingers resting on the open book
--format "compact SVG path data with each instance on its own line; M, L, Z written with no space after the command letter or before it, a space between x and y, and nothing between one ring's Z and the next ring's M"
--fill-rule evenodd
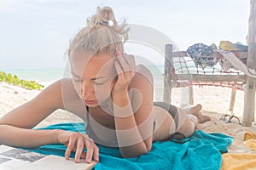
M80 158L85 159L90 163L92 156L94 161L99 161L99 149L92 139L87 134L73 133L69 131L60 130L58 133L58 141L67 146L65 158L69 159L71 152L75 152L74 161L79 163ZM84 148L87 149L86 153Z

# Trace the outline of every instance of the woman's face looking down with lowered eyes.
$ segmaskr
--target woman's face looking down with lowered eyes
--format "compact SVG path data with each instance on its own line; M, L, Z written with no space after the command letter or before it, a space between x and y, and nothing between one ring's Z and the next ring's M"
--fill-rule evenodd
M96 107L110 96L116 77L114 59L110 54L73 57L73 84L84 105Z

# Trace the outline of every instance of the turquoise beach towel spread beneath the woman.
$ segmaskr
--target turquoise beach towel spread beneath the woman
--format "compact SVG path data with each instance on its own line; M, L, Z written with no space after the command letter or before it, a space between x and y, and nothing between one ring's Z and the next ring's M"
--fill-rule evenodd
M84 123L61 123L40 129L63 129L84 133ZM195 133L186 140L188 142L183 144L171 141L154 142L150 152L136 158L122 158L117 148L98 144L100 162L96 164L95 169L217 170L222 163L221 153L228 151L227 147L232 143L233 138L222 133L204 133L195 130ZM66 146L48 144L31 150L45 155L64 156ZM74 154L71 157L73 156Z

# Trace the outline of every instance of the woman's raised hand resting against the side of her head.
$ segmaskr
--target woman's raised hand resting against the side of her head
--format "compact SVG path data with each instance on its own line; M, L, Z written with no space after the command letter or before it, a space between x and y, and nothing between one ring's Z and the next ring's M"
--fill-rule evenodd
M112 93L127 92L136 71L134 56L117 52L117 60L114 62L114 67L117 71L118 79L114 84Z

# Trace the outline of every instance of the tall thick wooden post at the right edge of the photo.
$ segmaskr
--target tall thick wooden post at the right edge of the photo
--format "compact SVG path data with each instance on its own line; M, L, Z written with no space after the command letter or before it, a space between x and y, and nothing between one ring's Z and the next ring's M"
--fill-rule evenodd
M256 0L251 0L250 2L247 45L247 68L256 70ZM241 122L243 127L252 126L255 111L255 82L255 78L247 77L247 87L245 91L244 109Z

